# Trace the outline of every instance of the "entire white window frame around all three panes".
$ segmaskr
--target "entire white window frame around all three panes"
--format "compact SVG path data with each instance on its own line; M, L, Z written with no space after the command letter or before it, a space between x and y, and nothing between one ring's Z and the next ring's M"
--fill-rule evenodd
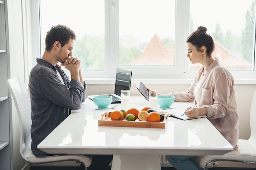
M118 66L118 17L112 9L112 5L118 13L118 0L105 0L105 71L82 71L85 79L115 78L116 68L132 71L132 77L137 79L193 79L195 77L197 71L188 71L189 60L186 57L190 0L176 0L175 66ZM31 9L29 9L31 15L39 16L31 19L33 20L31 22L31 37L34 40L40 40L40 34L38 34L38 32L40 33L39 6L40 0L31 0ZM256 23L254 23L254 26L256 27ZM234 78L256 78L255 41L254 30L254 71L230 71ZM40 56L40 41L34 41L31 44L33 44L32 60L35 65L36 58ZM68 71L67 74L69 74Z

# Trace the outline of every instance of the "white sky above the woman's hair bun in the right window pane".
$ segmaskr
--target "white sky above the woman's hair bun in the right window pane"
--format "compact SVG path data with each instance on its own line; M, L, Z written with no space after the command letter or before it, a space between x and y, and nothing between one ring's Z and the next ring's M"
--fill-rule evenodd
M194 26L205 25L209 32L214 32L218 23L222 33L232 28L233 33L240 34L245 27L246 11L252 2L253 0L191 0L191 13L195 18L200 18L194 19ZM215 17L209 20L211 15Z

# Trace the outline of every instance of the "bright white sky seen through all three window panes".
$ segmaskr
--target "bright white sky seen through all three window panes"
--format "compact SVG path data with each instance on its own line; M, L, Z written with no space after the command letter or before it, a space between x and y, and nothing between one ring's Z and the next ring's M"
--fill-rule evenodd
M252 2L191 0L193 25L195 29L204 25L211 34L218 23L222 33L231 27L232 33L241 34ZM45 9L41 15L43 36L56 24L69 26L78 36L104 34L104 0L41 0L41 5ZM119 0L119 36L134 36L140 42L149 42L154 33L160 39L174 37L174 23L175 0Z

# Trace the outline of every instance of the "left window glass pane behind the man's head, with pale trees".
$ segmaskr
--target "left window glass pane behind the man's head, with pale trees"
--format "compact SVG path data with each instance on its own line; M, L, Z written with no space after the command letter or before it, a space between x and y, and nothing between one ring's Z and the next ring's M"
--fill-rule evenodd
M41 51L52 26L64 24L77 36L72 55L81 60L84 71L105 70L104 0L41 0Z

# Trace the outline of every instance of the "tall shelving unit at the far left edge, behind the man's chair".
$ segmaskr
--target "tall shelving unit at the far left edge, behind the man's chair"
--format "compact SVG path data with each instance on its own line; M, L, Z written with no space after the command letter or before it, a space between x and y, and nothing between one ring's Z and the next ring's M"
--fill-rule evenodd
M6 80L10 73L9 63L9 30L7 28L7 2L8 0L0 0L0 68L1 76L0 81L0 169L1 170L13 170L13 145L11 145L12 132L10 130L10 108L9 108L9 97L8 86ZM10 96L8 96L10 95Z

